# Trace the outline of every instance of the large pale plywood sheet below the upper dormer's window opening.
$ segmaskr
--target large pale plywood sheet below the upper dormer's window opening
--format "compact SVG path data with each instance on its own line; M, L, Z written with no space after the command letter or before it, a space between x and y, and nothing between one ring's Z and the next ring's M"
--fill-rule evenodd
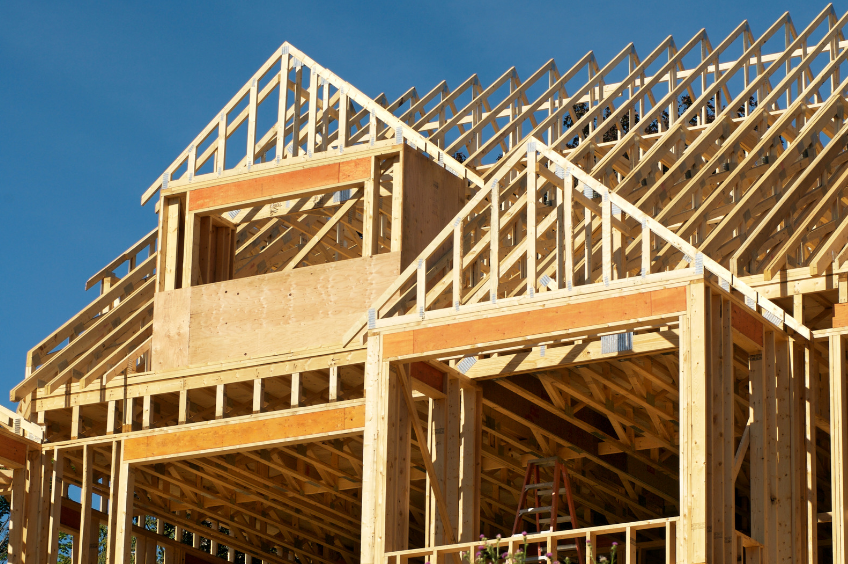
M400 274L398 253L191 289L188 364L338 344Z

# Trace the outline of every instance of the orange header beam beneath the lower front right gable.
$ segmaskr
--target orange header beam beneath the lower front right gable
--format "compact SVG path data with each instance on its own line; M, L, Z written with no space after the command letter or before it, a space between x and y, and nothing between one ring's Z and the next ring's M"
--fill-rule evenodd
M680 286L384 335L383 357L423 354L683 311L686 311L686 289Z

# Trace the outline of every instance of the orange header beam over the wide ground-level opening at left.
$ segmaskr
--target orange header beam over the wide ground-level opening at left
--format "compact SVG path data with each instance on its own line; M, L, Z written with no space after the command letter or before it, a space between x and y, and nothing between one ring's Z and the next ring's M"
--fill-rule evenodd
M260 420L232 421L226 425L174 430L124 441L124 461L250 448L312 437L356 431L365 425L365 405L340 407Z

